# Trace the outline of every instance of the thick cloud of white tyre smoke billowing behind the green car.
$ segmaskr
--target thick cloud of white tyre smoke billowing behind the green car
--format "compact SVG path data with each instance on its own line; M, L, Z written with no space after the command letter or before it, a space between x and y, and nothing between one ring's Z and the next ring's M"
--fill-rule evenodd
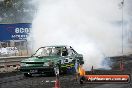
M31 37L36 50L71 45L84 55L85 69L102 67L105 56L121 54L120 0L39 0Z

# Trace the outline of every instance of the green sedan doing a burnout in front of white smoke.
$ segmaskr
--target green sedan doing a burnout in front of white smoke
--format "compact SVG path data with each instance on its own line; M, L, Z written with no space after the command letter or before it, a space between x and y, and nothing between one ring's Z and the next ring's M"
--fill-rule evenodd
M33 74L63 74L75 71L76 63L84 64L83 55L71 46L45 46L30 58L22 60L20 71L26 77Z

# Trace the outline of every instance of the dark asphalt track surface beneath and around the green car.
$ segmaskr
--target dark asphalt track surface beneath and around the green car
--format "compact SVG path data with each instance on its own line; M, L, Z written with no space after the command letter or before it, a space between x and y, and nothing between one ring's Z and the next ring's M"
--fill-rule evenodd
M116 62L119 64L118 62ZM94 74L130 74L132 75L132 62L125 62L125 70L95 70ZM116 66L117 68L117 66ZM87 72L90 74L90 72ZM132 79L132 77L131 77ZM33 76L24 77L20 72L0 74L0 88L54 88L55 76ZM62 75L60 76L60 88L132 88L132 81L130 83L120 84L97 84L97 83L84 83L79 84L75 80L75 75Z

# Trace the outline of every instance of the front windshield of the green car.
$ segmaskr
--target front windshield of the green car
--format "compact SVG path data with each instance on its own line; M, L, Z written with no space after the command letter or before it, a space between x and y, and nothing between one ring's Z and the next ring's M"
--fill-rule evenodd
M34 56L60 56L61 48L60 47L43 47L36 51Z

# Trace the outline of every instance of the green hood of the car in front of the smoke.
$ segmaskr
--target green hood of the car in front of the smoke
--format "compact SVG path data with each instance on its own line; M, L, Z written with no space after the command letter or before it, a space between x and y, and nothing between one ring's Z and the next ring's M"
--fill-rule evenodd
M28 59L24 59L21 62L26 63L26 62L57 62L60 60L60 56L45 56L45 57L30 57Z

